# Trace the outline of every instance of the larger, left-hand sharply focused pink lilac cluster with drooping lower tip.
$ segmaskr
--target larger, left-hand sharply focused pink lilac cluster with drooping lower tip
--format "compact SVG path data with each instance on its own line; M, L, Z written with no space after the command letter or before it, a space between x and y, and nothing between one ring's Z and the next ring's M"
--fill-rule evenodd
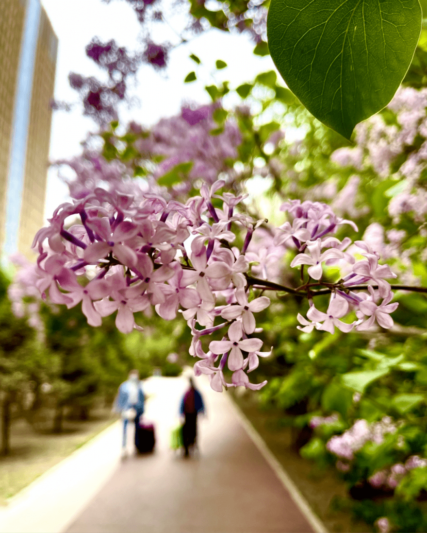
M50 226L38 231L36 287L56 304L71 308L81 302L88 324L101 325L102 317L117 311L116 326L123 333L141 329L134 313L154 307L166 320L183 313L193 334L190 353L201 361L196 374L207 374L212 389L243 385L259 389L245 373L257 368L262 341L254 313L267 308L266 296L249 301L245 252L257 223L236 211L243 196L215 193L217 181L201 196L185 204L166 201L153 193L142 199L96 188L72 204L59 206ZM223 200L214 208L212 197ZM69 217L78 217L68 227ZM231 247L234 228L245 232L241 249ZM191 241L191 244L190 244ZM220 302L221 298L223 299ZM218 305L218 303L220 303ZM215 318L220 323L214 325ZM196 328L196 325L202 329ZM224 330L209 351L201 337ZM226 383L225 365L232 370Z

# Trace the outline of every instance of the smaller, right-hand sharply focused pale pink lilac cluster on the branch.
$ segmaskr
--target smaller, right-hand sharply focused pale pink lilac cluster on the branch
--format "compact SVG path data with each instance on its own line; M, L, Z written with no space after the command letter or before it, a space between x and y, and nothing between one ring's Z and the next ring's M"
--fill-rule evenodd
M398 304L390 304L393 293L389 282L384 278L396 278L396 274L388 265L379 264L379 254L365 241L358 240L354 243L359 255L364 257L356 261L355 256L348 250L351 239L346 237L340 241L331 236L342 224L350 224L357 231L354 222L340 219L326 204L309 200L302 204L300 200L292 200L283 204L281 210L287 211L293 220L292 223L285 222L276 230L274 243L280 245L290 241L297 247L300 253L294 257L291 266L301 268L302 281L303 268L307 265L308 281L298 289L308 291L309 320L298 313L298 321L302 325L298 328L303 332L311 332L316 328L334 333L337 327L348 333L354 327L359 331L368 329L375 321L383 328L390 328L393 325L390 313L396 310ZM322 281L324 266L327 268L332 265L338 265L341 272L348 273L336 283ZM354 292L361 284L366 283L374 283L377 290L368 286L369 295L366 292ZM310 297L310 289L319 286L332 289L326 312L316 309ZM379 300L382 300L381 303ZM350 324L343 322L341 318L353 310L357 320Z

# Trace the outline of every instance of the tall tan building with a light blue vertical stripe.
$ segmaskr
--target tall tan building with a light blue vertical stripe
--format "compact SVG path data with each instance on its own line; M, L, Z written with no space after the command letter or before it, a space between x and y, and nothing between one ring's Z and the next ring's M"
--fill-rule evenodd
M43 225L58 39L40 0L1 0L0 245L30 246Z

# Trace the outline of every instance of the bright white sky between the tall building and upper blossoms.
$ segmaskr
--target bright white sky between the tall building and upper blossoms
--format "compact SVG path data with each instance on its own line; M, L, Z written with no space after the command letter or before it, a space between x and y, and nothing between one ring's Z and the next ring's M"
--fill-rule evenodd
M109 4L101 0L42 0L48 18L58 36L58 59L54 98L60 101L78 102L77 93L68 84L70 71L84 76L102 76L95 63L87 58L85 46L94 36L101 41L115 39L129 51L139 48L141 27L132 7L123 0ZM171 31L163 27L163 31ZM159 42L170 39L170 34L155 35ZM167 72L157 72L150 66L143 66L131 89L138 103L132 109L122 109L126 122L149 126L161 117L178 113L184 102L207 103L208 94L204 85L229 80L231 87L249 81L258 72L274 68L270 56L260 58L252 54L253 42L244 35L230 35L219 30L210 30L170 53ZM198 67L190 54L196 54L202 61ZM228 67L217 71L215 61L224 60ZM188 72L196 70L198 80L184 84ZM83 116L77 103L72 111L53 113L51 129L50 159L57 160L78 155L80 141L87 132L96 131L93 121ZM56 169L48 172L45 219L50 218L55 207L68 201L68 189L58 178Z

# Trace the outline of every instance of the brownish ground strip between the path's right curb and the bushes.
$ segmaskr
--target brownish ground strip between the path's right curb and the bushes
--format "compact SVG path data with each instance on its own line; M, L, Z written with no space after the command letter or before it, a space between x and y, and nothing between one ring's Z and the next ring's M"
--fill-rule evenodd
M292 428L280 427L277 422L283 412L259 409L256 392L246 391L239 395L233 391L232 397L328 531L373 531L365 522L352 521L349 513L331 510L330 504L334 496L346 496L346 484L336 477L335 469L320 470L292 448Z

